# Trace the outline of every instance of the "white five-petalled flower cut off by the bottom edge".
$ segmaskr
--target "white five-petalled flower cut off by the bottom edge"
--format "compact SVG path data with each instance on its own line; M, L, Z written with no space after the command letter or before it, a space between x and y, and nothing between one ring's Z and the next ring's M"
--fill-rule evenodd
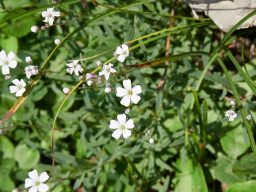
M46 192L49 189L46 184L42 183L49 179L49 176L45 171L38 177L37 171L33 170L28 173L28 176L29 178L25 180L25 188L31 187L28 192Z

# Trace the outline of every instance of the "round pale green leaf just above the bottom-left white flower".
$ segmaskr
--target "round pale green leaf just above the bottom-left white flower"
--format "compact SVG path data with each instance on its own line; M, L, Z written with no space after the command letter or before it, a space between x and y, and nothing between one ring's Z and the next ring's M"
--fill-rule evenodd
M15 148L15 160L21 169L32 169L39 161L40 154L38 150L27 147L26 144L19 145Z

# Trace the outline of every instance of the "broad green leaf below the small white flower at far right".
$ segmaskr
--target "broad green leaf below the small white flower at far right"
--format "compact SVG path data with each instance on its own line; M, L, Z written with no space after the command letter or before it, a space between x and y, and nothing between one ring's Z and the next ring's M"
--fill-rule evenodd
M235 129L228 131L220 139L222 149L233 158L242 155L250 147L249 142L244 142L243 127L241 126L242 124L239 125Z

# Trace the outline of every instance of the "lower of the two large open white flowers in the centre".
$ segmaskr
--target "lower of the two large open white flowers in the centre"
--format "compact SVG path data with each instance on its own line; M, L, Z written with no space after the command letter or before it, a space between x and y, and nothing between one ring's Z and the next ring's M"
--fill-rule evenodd
M123 138L129 138L131 136L131 131L129 129L132 129L134 127L133 120L129 119L126 122L126 116L125 114L117 115L117 121L111 120L109 128L110 129L116 129L112 137L118 139L123 135Z

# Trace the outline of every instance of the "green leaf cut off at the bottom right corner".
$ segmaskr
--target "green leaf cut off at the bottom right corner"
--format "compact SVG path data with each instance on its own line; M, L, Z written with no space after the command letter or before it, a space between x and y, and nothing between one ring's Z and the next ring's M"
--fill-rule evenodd
M254 192L255 189L256 181L246 181L229 186L226 192Z

